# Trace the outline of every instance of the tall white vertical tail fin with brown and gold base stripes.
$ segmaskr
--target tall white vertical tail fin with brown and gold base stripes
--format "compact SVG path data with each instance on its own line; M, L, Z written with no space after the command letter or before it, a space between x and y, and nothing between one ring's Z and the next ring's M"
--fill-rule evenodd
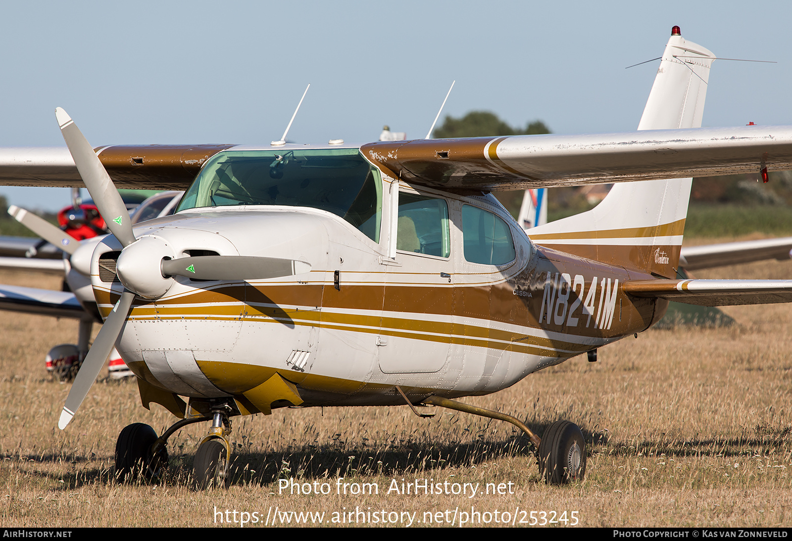
M672 30L638 130L701 127L714 55ZM619 183L594 209L531 229L536 244L676 276L691 179Z

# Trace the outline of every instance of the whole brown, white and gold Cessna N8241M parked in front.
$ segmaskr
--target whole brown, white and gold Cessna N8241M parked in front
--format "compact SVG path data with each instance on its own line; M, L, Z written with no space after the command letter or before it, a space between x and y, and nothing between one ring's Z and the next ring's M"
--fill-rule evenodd
M626 134L94 150L57 109L76 170L27 161L13 183L70 185L78 171L112 231L90 260L105 324L59 427L115 345L143 405L181 418L160 437L124 428L122 479L154 475L190 422L211 421L194 461L204 487L228 481L234 415L405 403L512 422L546 480L581 479L573 423L540 440L455 399L592 356L645 331L669 300L792 301L792 282L676 278L686 177L792 168L792 127L700 128L714 59L675 27ZM177 214L133 228L113 181L187 191ZM606 182L618 184L600 206L531 238L489 193Z

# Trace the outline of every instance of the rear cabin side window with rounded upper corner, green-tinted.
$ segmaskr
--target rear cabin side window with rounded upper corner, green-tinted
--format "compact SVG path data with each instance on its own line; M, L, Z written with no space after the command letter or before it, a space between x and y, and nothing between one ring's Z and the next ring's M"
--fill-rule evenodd
M470 263L504 265L514 260L514 240L505 221L478 208L462 206L465 259Z

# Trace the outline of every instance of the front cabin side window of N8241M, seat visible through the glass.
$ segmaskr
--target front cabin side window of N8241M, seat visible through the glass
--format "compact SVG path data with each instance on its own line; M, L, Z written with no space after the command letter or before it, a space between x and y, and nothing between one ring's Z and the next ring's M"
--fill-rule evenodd
M397 250L437 257L451 254L445 199L400 192L397 228Z

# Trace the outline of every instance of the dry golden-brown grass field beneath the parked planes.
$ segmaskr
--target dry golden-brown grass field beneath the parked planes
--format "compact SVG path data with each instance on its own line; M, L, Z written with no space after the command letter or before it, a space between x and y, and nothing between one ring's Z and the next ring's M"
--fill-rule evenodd
M792 278L792 262L698 276ZM4 273L0 282L59 286L32 274ZM171 438L169 472L156 484L116 484L120 429L146 422L161 433L172 416L141 407L134 382L101 379L61 432L70 386L49 380L44 355L74 342L77 324L0 312L0 525L271 526L273 516L294 525L294 511L323 512L328 526L420 526L430 516L455 526L790 526L792 305L725 312L737 326L646 331L603 348L596 363L574 358L466 400L527 419L540 434L558 418L576 422L591 444L584 482L540 482L526 438L503 422L447 410L426 420L407 407L284 409L234 419L231 486L203 493L189 478L204 423ZM280 479L290 477L329 494L281 494ZM348 493L376 483L379 494L343 494L338 478ZM399 489L402 479L433 479L478 491L399 494L389 492L393 479ZM505 494L485 494L487 483L496 493L505 483Z

